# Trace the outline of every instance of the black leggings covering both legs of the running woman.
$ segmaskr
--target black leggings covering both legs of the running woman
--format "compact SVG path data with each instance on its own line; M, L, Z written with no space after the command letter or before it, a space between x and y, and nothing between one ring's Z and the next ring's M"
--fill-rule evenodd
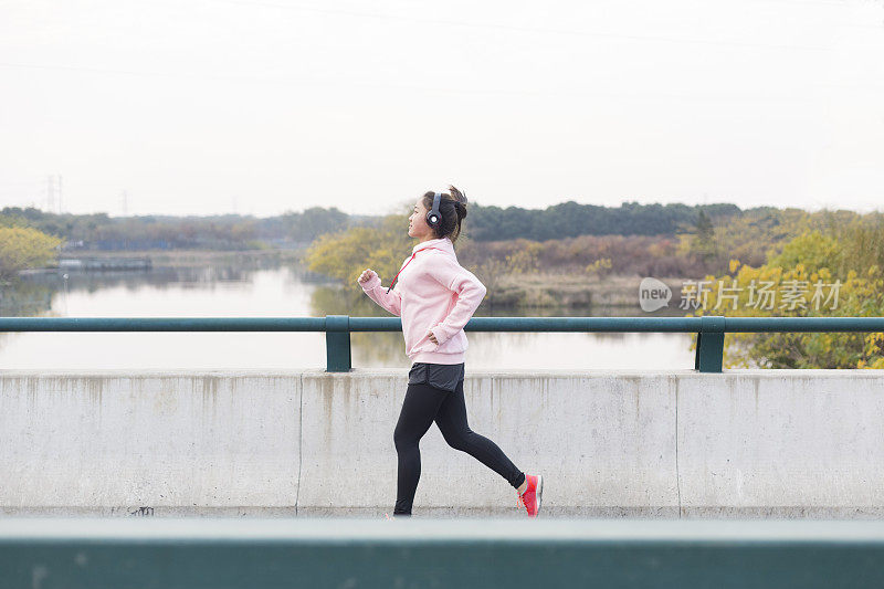
M411 515L411 504L421 477L421 451L418 444L433 421L449 445L466 452L485 466L506 478L514 488L525 482L525 474L516 469L497 444L472 431L466 424L466 403L463 399L463 380L453 392L429 383L409 385L402 411L393 432L396 452L399 454L399 476L393 515Z

